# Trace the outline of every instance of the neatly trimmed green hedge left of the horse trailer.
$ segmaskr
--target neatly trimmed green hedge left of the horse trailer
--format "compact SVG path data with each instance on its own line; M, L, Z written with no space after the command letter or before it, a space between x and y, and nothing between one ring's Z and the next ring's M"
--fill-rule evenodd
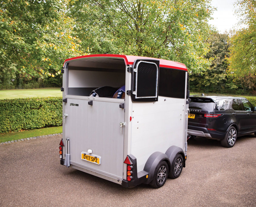
M0 100L0 133L62 125L62 97Z

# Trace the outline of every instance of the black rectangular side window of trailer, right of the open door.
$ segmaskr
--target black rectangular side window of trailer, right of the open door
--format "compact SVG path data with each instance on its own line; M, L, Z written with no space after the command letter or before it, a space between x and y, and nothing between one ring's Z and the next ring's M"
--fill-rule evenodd
M160 67L159 96L185 98L186 71Z

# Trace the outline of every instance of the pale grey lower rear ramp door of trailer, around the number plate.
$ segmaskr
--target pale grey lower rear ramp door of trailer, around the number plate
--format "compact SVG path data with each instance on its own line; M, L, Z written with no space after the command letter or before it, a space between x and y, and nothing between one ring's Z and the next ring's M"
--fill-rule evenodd
M65 138L70 139L70 161L95 173L111 178L123 177L124 109L119 107L124 100L95 98L92 105L89 99L67 99L65 104ZM81 153L97 157L100 163L81 159Z

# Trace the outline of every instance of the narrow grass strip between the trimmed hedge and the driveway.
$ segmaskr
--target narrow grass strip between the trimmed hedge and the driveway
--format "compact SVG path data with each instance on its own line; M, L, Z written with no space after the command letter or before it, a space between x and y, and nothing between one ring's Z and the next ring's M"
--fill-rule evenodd
M41 136L41 135L56 134L56 133L62 133L62 126L0 134L0 143L12 141L12 140L20 140L28 137L33 137L33 136Z

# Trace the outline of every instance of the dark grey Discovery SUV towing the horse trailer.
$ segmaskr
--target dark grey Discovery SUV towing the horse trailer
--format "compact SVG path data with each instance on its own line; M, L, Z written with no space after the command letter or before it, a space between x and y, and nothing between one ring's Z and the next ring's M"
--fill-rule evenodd
M256 107L246 98L230 96L190 96L188 134L220 140L234 146L237 137L254 133Z

